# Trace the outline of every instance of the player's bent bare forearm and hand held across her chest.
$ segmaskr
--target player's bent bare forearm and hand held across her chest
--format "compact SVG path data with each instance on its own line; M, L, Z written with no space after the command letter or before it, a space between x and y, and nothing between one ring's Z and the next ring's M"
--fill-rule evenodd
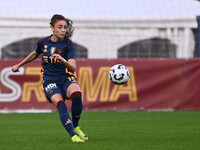
M56 53L52 54L51 56L55 57L57 60L60 60L69 72L74 73L76 71L76 59L65 60L62 56Z

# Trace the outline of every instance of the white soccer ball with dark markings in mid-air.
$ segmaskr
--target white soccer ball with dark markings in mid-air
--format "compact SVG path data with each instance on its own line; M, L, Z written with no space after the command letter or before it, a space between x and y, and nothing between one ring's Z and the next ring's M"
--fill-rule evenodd
M129 80L130 73L126 66L117 64L110 68L109 77L114 84L122 85Z

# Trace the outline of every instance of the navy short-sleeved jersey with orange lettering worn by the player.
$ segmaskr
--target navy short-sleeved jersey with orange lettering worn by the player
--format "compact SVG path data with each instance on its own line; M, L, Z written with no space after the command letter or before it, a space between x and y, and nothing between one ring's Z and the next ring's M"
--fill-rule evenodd
M43 79L64 77L67 74L65 65L51 56L52 53L60 54L65 60L76 59L73 42L65 37L62 41L53 42L51 36L40 39L37 43L36 52L42 53Z

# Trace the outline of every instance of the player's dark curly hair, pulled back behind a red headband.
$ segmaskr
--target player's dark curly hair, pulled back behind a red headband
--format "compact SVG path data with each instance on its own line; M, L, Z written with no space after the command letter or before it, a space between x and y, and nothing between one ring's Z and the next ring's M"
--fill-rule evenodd
M53 17L51 18L51 22L49 23L51 26L54 26L54 23L58 20L65 20L67 23L67 31L66 31L66 36L68 38L72 37L73 33L74 33L74 27L72 26L73 21L70 19L65 18L62 15L59 14L55 14L53 15Z

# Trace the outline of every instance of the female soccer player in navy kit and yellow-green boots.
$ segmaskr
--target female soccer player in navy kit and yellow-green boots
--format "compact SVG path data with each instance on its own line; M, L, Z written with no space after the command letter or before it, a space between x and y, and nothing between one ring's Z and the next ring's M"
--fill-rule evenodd
M42 74L45 95L59 112L60 120L73 142L88 140L78 122L82 113L81 90L76 82L75 48L69 39L73 35L72 21L62 15L55 14L51 18L52 35L38 41L36 50L24 60L12 67L13 72L26 63L35 60L42 54ZM65 99L72 99L72 120L68 114Z

